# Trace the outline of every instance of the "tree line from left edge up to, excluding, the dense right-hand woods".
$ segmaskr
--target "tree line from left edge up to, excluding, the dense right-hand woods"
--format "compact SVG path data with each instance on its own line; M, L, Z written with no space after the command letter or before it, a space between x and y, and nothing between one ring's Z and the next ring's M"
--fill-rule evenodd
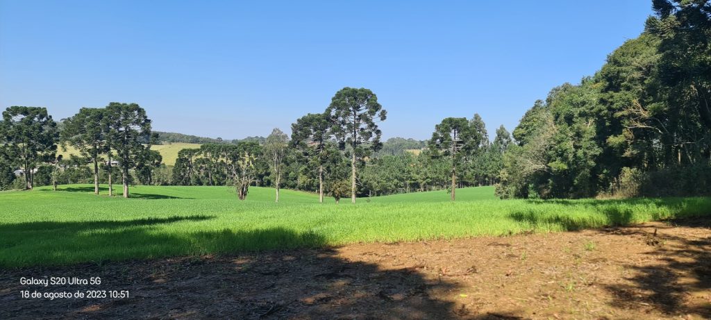
M475 114L471 120L458 119L472 135L455 137L454 144L466 139L466 148L457 149L456 156L434 140L392 138L383 144L378 122L385 120L385 110L372 91L351 87L336 92L324 112L296 119L291 137L274 129L264 139L182 149L172 167L150 149L161 138L151 132L151 120L136 104L82 108L59 123L40 107L9 107L3 115L2 188L18 186L14 173L20 169L26 189L91 181L96 194L99 184L107 183L113 195L120 178L124 197L129 186L139 183L233 186L240 199L246 198L249 186L272 186L275 201L283 186L319 193L320 201L329 195L336 201L350 197L351 202L358 196L489 185L496 182L511 140L501 127L490 144L486 126ZM58 148L67 146L78 154L57 156ZM456 183L447 180L449 168L456 169Z

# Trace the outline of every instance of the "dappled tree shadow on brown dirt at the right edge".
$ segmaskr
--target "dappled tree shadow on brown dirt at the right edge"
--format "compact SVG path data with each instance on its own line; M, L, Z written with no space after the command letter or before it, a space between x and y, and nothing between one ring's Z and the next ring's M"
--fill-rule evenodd
M711 319L711 219L669 220L669 227L703 228L694 240L665 235L666 228L606 228L603 233L636 236L650 245L649 257L662 257L662 264L625 265L632 272L627 282L606 287L616 297L612 306L653 308L670 315L697 314ZM699 297L699 294L708 294Z

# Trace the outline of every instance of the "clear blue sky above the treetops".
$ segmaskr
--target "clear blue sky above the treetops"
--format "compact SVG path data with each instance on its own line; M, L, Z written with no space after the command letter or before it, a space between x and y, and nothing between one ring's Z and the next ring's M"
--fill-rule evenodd
M155 130L235 139L289 132L349 86L378 95L385 138L475 112L493 134L650 14L651 0L0 0L0 107L63 119L137 102Z

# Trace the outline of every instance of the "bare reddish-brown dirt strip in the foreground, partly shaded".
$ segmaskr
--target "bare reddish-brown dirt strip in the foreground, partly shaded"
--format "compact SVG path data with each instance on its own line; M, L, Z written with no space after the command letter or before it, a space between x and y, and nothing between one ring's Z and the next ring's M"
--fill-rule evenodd
M102 284L19 283L43 276ZM26 289L129 298L22 299ZM16 318L711 319L711 219L0 270L0 319Z

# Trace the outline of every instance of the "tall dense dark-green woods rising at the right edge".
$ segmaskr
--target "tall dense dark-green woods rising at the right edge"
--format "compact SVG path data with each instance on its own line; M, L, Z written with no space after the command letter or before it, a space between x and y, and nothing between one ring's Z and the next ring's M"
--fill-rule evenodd
M711 192L711 12L704 1L653 8L641 36L598 73L555 87L526 112L499 196Z

